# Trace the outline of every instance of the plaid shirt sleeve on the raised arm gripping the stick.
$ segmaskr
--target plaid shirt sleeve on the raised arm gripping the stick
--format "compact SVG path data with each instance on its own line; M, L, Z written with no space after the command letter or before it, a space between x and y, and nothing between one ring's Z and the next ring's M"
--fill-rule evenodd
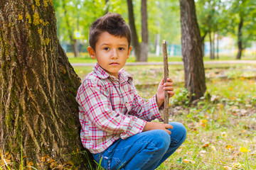
M130 114L146 121L151 121L156 118L162 121L161 114L159 113L159 108L156 103L156 94L150 98L149 101L144 102L143 98L139 96L138 91L134 86L134 101L132 103Z

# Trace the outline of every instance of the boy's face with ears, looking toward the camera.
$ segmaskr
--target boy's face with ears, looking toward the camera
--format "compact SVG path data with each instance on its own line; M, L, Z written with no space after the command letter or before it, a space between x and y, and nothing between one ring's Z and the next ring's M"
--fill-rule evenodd
M87 50L92 59L96 58L102 69L118 79L117 73L124 67L132 47L129 47L127 38L116 37L105 31L99 35L95 50L90 46Z

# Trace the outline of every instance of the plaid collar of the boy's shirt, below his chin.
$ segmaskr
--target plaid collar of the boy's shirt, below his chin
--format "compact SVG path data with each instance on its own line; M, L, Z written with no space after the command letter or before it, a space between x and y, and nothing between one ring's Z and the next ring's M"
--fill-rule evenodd
M107 79L108 77L111 77L111 75L108 74L104 69L102 69L102 67L100 67L99 64L95 64L93 66L93 71L101 79ZM128 74L124 69L120 69L118 72L118 75L119 75L120 83L122 83L124 81L129 81L130 79L132 80L132 76L130 74Z

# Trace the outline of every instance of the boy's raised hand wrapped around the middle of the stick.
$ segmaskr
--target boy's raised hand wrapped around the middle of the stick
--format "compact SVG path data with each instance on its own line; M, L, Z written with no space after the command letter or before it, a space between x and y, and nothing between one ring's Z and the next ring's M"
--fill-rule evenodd
M158 107L160 107L161 104L164 102L164 91L167 91L167 93L169 94L169 98L174 96L174 84L172 83L172 79L167 78L167 81L168 82L164 83L164 78L161 79L159 87L157 88L156 103Z

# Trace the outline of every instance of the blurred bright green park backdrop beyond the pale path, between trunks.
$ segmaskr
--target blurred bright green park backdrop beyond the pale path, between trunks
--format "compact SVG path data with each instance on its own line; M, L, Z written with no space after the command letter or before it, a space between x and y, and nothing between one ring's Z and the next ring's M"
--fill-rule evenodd
M128 3L132 3L133 11L128 8ZM196 0L195 4L205 58L256 59L255 0ZM145 8L145 3L140 0L55 0L54 6L58 38L68 57L88 57L90 25L107 12L122 14L127 24L131 22L129 15L133 15L137 40L142 42L142 25L145 23L142 22L142 15L145 15L142 7ZM169 57L181 60L180 15L177 0L146 1L146 61L150 57L161 57L162 40L167 41ZM129 61L136 61L134 55L133 50Z

